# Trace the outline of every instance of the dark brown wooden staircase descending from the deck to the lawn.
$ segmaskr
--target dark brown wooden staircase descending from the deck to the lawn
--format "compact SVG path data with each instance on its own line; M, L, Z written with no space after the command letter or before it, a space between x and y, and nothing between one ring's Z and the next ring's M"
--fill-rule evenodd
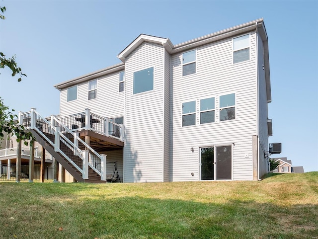
M30 129L30 132L35 137L36 141L42 145L42 147L54 157L78 182L90 182L90 183L106 183L106 181L100 180L100 175L96 173L92 168L88 168L88 179L83 179L82 173L71 163L67 160L61 153L56 152L54 147L43 137L41 136L36 130ZM54 142L55 136L50 133L42 132L51 142ZM73 136L70 136L70 140ZM84 148L81 146L80 148ZM79 156L74 155L73 151L67 146L67 143L60 140L60 149L61 151L69 157L79 168L82 168L82 159Z

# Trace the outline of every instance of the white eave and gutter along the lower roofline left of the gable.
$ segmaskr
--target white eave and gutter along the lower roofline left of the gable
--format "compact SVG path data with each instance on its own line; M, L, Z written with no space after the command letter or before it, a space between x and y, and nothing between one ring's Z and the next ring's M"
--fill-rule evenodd
M97 78L100 78L102 76L111 74L113 72L119 72L119 71L123 71L123 70L125 70L125 64L119 63L117 65L107 67L107 68L101 69L101 70L96 71L96 72L88 73L88 74L81 76L81 77L74 78L72 80L64 81L62 83L54 85L54 87L57 89L63 89L63 88L69 87L71 85L76 85L76 84L83 82L83 81L86 81L86 80L97 79Z

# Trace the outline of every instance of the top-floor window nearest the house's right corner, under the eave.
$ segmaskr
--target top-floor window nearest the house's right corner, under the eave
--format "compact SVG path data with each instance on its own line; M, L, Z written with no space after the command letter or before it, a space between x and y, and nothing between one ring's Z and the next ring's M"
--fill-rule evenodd
M249 60L249 34L233 38L233 63Z

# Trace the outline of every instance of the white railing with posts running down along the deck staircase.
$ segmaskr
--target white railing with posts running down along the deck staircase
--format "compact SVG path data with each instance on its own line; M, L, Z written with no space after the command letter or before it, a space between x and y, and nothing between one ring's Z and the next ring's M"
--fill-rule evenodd
M89 113L89 110L86 110L85 113L87 112ZM87 120L89 119L89 115L90 114L85 114L85 122L89 122L89 120ZM78 132L72 131L69 126L65 126L57 117L52 115L51 122L49 122L41 117L34 108L32 108L31 112L19 112L19 122L22 122L22 125L25 128L35 130L43 138L45 138L47 142L54 147L56 152L62 154L65 159L72 163L72 165L82 173L82 177L84 179L88 178L88 166L90 166L98 175L100 175L101 180L106 180L106 155L99 155L79 138ZM53 135L54 139L49 139L48 134ZM68 156L66 152L60 148L61 142L68 148L68 151L72 151L74 156L78 156L81 159L80 163L76 163L71 159L71 156ZM82 144L87 150L80 150L79 143ZM101 170L97 170L89 161L90 154L98 157L101 160Z

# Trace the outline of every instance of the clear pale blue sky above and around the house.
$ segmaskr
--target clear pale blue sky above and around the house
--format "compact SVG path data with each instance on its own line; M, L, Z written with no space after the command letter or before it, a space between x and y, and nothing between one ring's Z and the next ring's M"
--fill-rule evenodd
M120 63L141 33L179 44L264 18L273 121L269 143L305 172L318 171L317 0L0 0L0 51L16 56L21 82L0 69L0 97L10 109L59 114L53 85Z

